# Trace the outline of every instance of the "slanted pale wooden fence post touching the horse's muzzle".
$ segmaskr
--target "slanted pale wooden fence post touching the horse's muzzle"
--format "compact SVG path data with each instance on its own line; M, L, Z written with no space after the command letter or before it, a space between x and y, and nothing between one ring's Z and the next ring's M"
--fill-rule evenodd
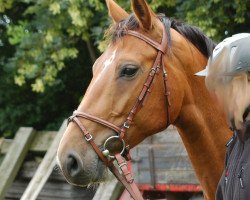
M45 154L41 164L39 165L34 177L26 188L21 200L35 200L42 190L44 184L49 178L56 164L56 153L61 137L66 129L67 121L65 120L54 138L50 148Z

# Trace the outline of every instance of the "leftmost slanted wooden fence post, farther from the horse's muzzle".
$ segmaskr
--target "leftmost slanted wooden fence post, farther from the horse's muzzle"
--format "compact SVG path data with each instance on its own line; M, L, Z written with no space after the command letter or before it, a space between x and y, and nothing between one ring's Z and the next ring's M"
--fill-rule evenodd
M0 166L0 199L15 179L35 135L33 128L19 128Z

